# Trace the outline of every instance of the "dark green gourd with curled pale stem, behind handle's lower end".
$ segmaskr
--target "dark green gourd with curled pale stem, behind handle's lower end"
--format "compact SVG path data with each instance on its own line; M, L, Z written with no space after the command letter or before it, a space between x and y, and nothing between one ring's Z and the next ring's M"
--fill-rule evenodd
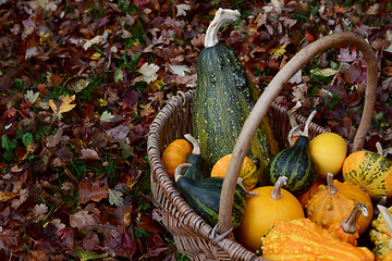
M209 177L201 181L193 181L182 176L183 167L192 167L189 163L183 163L174 172L175 186L186 202L208 224L215 226L218 223L220 195L223 179ZM241 223L245 211L245 190L237 185L234 194L232 222L234 228Z

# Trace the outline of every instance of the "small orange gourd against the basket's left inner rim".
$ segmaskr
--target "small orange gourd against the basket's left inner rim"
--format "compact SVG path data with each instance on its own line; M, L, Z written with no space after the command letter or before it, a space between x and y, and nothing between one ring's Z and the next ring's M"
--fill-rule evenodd
M186 139L173 140L162 153L162 164L170 178L174 177L175 169L186 162L192 153L192 145Z

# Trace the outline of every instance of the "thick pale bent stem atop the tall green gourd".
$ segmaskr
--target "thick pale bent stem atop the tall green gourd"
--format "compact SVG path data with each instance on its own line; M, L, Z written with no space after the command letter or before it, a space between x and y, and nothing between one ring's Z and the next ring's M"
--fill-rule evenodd
M216 46L218 40L218 30L224 23L233 23L240 17L240 12L237 10L230 9L218 9L212 22L207 28L205 37L205 47Z

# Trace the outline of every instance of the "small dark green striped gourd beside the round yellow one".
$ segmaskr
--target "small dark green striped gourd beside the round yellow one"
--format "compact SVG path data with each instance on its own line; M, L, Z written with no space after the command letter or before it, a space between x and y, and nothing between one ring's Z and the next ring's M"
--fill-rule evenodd
M274 184L280 176L286 176L287 181L283 187L294 195L306 192L317 181L317 166L310 158L308 137L308 126L315 112L306 121L304 132L295 144L275 154L270 164L271 183Z

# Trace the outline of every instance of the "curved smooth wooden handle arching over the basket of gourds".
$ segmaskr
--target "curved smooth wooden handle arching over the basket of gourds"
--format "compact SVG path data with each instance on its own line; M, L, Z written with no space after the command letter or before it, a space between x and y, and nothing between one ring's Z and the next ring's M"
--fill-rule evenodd
M250 111L234 146L228 171L225 173L220 198L218 233L222 234L232 227L231 216L233 210L234 190L242 165L241 163L244 161L244 158L249 149L250 140L260 125L262 117L267 114L272 101L283 89L283 84L285 84L298 70L306 65L316 55L330 48L347 45L356 46L364 54L367 64L365 105L362 114L362 121L350 152L354 152L363 148L376 103L376 88L378 84L376 54L370 45L358 35L350 32L332 34L309 44L297 52L273 77L256 102L254 109Z

